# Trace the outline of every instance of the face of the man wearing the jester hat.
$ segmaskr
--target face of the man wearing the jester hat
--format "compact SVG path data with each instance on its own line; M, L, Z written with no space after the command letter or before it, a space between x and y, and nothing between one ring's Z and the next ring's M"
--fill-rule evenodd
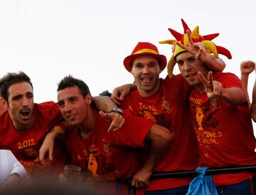
M202 62L196 60L190 52L183 52L176 57L178 69L191 86L198 86L201 80L198 77L198 72L202 72L206 77L208 69Z

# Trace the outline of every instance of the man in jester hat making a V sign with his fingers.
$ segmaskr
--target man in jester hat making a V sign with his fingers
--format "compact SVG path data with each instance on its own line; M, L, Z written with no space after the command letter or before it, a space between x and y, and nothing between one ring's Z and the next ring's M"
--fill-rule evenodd
M186 30L186 29L185 29ZM196 33L186 30L176 41L174 60L181 74L191 85L189 96L193 127L200 151L200 167L236 167L256 165L255 136L250 117L250 102L240 79L231 73L210 72L194 55ZM216 46L216 51L228 55ZM255 194L253 172L213 175L220 194Z

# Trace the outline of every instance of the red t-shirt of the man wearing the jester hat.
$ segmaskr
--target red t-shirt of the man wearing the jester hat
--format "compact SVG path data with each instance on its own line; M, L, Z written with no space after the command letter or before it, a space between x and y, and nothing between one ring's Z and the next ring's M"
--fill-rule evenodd
M239 87L240 79L231 73L213 73L213 80L223 88ZM231 105L223 99L208 99L195 88L189 97L196 138L201 153L200 167L235 167L256 165L255 137L250 106ZM241 182L251 173L214 175L216 186Z

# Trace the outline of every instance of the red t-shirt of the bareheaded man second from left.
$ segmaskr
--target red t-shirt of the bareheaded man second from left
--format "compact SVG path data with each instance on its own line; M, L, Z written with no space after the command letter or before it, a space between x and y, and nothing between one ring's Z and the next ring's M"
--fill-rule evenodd
M89 138L82 140L79 129L73 128L65 141L73 165L87 170L87 176L92 184L97 183L99 190L107 189L115 193L114 181L129 179L139 169L134 147L144 147L144 138L153 123L132 116L127 111L124 111L124 118L122 128L108 133L110 123L95 112L95 126Z

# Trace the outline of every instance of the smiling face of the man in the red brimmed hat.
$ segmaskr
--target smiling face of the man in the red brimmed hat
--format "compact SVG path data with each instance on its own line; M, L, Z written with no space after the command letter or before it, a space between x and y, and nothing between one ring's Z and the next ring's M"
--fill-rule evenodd
M159 89L160 72L161 69L157 57L142 55L132 61L131 73L134 76L139 94L142 96L151 96Z

